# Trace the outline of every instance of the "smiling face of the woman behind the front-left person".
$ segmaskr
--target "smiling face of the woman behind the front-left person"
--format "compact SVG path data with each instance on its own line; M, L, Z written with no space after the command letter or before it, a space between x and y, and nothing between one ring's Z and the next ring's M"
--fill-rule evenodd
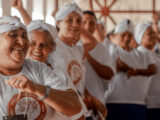
M27 56L30 59L46 62L48 55L52 52L52 37L47 31L34 30L30 35Z

